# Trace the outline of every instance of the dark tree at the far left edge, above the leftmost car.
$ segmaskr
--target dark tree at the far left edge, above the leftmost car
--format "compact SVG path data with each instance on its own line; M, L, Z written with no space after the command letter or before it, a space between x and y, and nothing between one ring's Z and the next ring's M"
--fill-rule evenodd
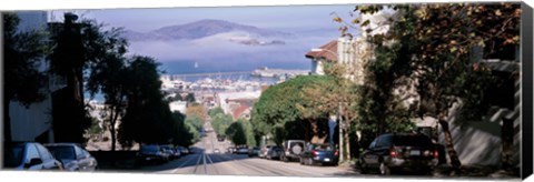
M3 139L11 141L9 104L18 101L24 107L42 101L44 73L39 65L48 53L46 37L41 31L19 31L20 19L14 13L3 13L4 98Z

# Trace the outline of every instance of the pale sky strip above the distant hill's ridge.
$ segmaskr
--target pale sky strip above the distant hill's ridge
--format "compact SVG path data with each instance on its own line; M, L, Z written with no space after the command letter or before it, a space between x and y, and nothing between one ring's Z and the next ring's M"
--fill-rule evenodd
M332 12L348 18L354 4L75 10L113 27L149 31L200 19L224 19L273 29L332 28ZM62 12L62 11L58 11ZM56 16L61 19L61 14Z

